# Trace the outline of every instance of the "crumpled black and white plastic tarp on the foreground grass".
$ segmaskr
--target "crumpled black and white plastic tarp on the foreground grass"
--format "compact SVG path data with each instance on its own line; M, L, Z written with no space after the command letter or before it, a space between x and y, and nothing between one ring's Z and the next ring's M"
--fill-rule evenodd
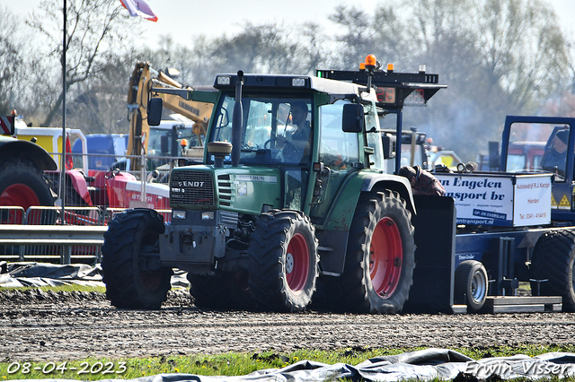
M497 377L496 377L497 376ZM551 352L537 357L473 360L446 349L428 349L365 360L356 366L302 360L283 369L262 369L237 377L208 377L193 374L159 374L128 379L133 382L328 382L347 378L353 381L403 381L434 378L456 382L509 378L564 378L575 376L575 353ZM28 379L30 380L30 379ZM39 379L40 380L40 379ZM54 379L53 379L54 380ZM64 379L56 379L63 381ZM126 381L126 379L111 379Z

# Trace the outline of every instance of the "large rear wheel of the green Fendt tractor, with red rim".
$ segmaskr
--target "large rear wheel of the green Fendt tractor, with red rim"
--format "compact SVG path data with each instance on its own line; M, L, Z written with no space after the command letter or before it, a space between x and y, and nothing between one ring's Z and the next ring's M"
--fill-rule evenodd
M354 313L401 311L413 283L413 232L411 213L398 193L361 195L350 225L343 273L322 278L330 307Z

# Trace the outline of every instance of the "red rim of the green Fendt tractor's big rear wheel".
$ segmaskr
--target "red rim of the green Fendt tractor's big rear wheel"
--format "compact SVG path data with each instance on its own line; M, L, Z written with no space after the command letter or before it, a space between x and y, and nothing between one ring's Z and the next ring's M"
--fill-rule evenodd
M369 247L369 275L376 293L383 299L394 294L402 275L402 237L395 221L377 222Z

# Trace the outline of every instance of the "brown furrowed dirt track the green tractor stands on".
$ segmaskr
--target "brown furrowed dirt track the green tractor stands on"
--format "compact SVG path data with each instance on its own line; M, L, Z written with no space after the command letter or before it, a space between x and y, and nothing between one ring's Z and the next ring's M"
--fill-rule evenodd
M118 310L98 293L0 291L0 361L289 352L300 348L573 344L575 314L264 314L195 308L171 291L159 311Z

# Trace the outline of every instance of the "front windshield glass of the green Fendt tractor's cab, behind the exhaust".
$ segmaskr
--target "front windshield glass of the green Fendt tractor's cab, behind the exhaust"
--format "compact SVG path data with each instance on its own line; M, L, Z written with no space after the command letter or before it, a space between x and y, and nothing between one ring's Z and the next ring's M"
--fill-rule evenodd
M210 142L232 142L234 103L233 94L222 96ZM276 98L247 93L242 97L242 106L240 163L300 165L311 160L314 132L311 97Z

